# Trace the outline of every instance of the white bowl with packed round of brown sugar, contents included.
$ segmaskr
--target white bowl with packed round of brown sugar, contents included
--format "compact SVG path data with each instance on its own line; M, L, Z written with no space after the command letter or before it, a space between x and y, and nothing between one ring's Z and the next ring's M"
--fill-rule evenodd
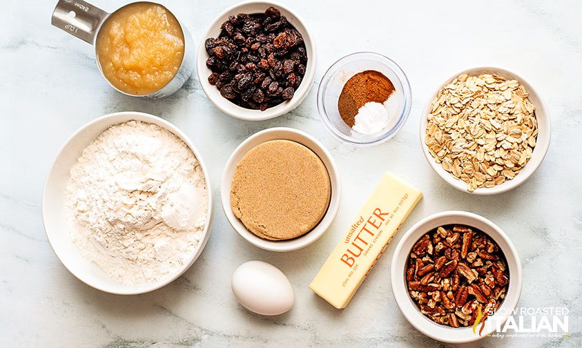
M293 128L268 128L233 151L220 195L227 220L247 242L294 251L318 240L336 217L340 175L316 138Z

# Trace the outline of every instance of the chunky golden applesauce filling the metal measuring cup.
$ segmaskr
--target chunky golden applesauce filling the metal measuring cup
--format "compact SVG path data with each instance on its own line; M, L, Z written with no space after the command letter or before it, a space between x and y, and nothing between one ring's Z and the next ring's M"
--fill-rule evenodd
M113 12L95 41L104 77L130 95L166 86L184 59L184 34L174 15L157 3L130 3Z

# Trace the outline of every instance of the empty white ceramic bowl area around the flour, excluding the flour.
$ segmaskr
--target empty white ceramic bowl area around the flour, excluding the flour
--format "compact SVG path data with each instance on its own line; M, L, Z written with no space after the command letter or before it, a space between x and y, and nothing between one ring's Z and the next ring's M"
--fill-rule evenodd
M202 166L204 179L206 180L206 189L208 190L208 219L204 226L204 236L197 245L196 250L192 253L190 260L180 267L180 269L177 269L173 275L152 284L127 286L108 277L103 270L84 258L72 242L65 213L65 192L70 177L70 169L77 163L81 151L110 126L133 119L157 124L162 128L166 128L191 148L200 162L200 166ZM70 273L95 289L120 295L134 295L153 291L173 282L173 280L180 277L182 273L190 268L198 256L200 256L202 249L204 249L208 241L208 226L210 226L212 218L212 190L202 156L200 156L200 153L196 150L191 140L180 129L164 119L145 113L113 113L94 119L85 126L82 126L61 147L55 158L55 162L52 163L44 185L42 215L48 242L50 242L52 250L55 251L59 260L61 260Z

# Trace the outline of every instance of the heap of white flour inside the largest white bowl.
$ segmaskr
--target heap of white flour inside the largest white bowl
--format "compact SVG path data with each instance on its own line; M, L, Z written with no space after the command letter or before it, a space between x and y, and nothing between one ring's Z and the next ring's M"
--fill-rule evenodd
M106 129L70 171L66 214L84 258L121 284L149 284L191 260L208 220L202 167L155 124Z

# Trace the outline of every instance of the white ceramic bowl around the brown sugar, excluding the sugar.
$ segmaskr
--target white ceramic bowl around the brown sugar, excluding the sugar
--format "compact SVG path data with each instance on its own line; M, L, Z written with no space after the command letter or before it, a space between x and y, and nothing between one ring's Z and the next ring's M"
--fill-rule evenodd
M329 180L331 181L331 199L327 212L322 220L311 231L304 235L294 238L292 240L265 240L248 229L235 216L231 207L231 184L236 166L242 157L258 144L269 142L269 140L287 139L293 142L298 142L311 149L316 155L320 157L323 164L327 168ZM222 209L226 214L233 228L244 238L247 242L259 247L261 249L270 251L293 251L304 247L318 240L323 233L328 229L329 225L336 218L338 209L340 208L340 197L342 195L342 186L340 184L340 174L336 166L336 162L331 157L331 153L327 151L324 146L318 142L311 135L298 131L293 128L276 127L265 129L248 137L242 142L226 162L224 173L222 174L222 185L220 188L220 197L222 198Z

